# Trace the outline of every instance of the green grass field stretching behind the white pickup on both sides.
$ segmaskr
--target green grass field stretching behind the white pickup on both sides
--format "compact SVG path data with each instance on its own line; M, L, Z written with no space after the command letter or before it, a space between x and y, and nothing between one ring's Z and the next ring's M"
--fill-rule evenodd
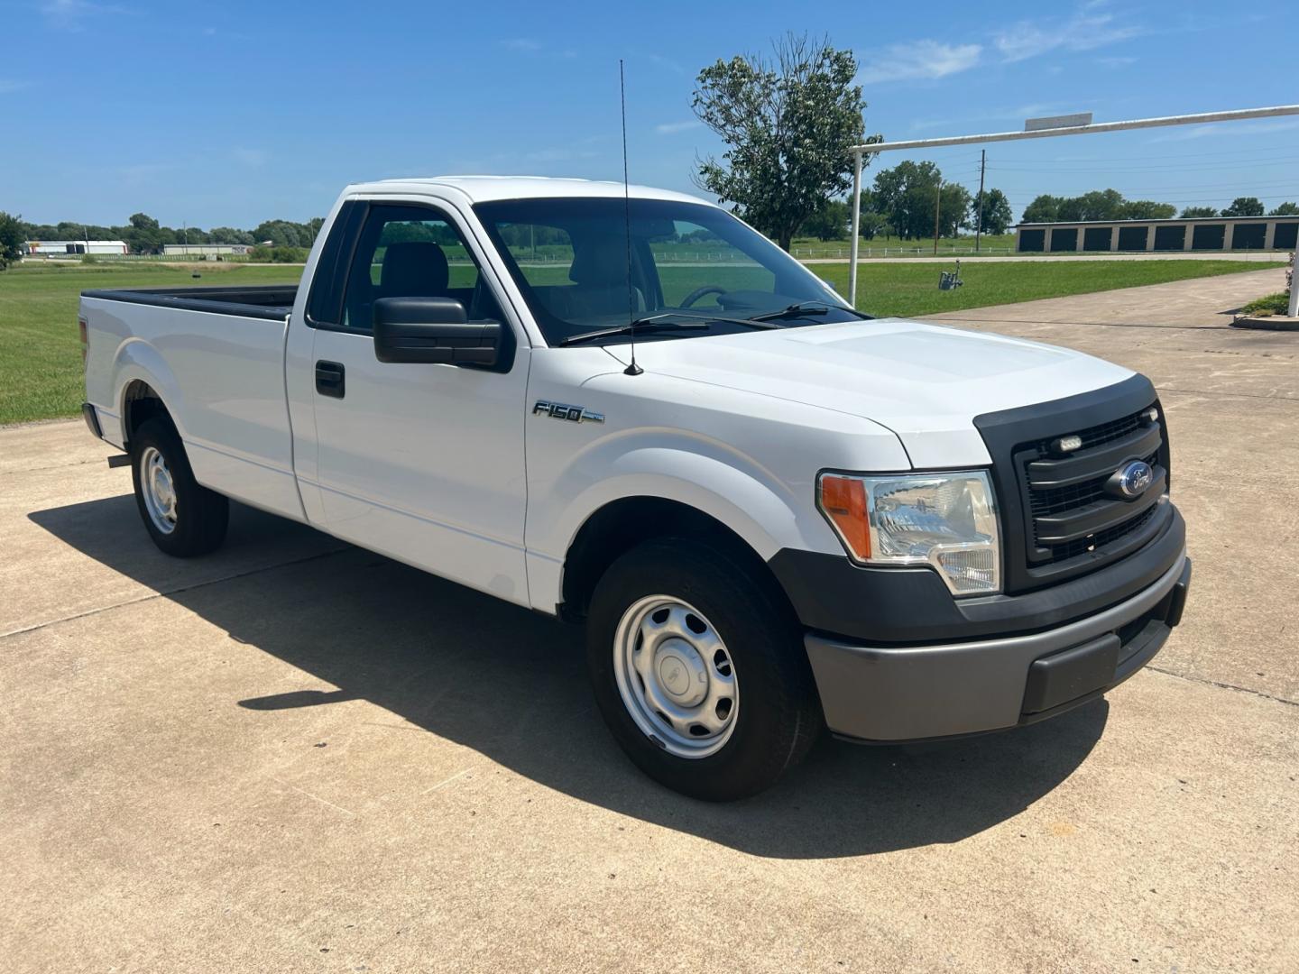
M939 291L933 264L864 264L859 269L859 306L876 316L921 316L1033 301L1039 297L1157 284L1185 278L1235 274L1281 262L1233 261L1055 261L966 264L964 287ZM683 269L673 269L681 271ZM818 264L818 277L847 293L848 265ZM0 423L75 416L82 392L77 301L84 290L177 287L184 284L296 283L301 268L207 265L194 279L191 268L35 265L0 273ZM725 268L717 268L725 274ZM718 281L718 283L725 283Z

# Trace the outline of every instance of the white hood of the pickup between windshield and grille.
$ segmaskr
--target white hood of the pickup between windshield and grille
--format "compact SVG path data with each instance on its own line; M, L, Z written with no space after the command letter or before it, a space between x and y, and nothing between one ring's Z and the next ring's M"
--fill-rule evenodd
M900 318L646 342L637 360L661 375L864 417L892 430L916 468L986 465L976 416L1133 374L1066 348Z

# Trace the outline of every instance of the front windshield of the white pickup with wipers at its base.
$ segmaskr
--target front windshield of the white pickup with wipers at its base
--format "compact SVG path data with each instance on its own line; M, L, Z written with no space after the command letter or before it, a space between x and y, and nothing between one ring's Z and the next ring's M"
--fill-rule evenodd
M699 203L631 200L629 282L626 206L618 197L499 200L474 206L548 344L678 312L709 325L647 329L644 339L746 331L744 319L801 303L807 309L783 316L782 326L861 317L843 309L829 286L770 240L725 210ZM709 314L718 317L709 319ZM642 334L637 331L637 340ZM627 342L627 336L595 340Z

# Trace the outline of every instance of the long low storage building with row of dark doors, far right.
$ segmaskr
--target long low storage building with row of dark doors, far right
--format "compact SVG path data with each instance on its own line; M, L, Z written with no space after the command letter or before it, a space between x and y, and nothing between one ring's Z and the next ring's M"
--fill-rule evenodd
M1186 219L1094 219L1020 223L1021 253L1131 251L1293 251L1296 217L1194 217Z

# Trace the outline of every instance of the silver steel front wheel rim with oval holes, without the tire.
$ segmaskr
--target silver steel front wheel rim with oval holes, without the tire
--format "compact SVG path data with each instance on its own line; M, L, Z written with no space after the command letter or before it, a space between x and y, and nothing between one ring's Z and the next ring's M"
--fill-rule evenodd
M670 755L708 757L735 729L730 652L692 605L668 595L634 603L613 639L613 671L637 726Z

